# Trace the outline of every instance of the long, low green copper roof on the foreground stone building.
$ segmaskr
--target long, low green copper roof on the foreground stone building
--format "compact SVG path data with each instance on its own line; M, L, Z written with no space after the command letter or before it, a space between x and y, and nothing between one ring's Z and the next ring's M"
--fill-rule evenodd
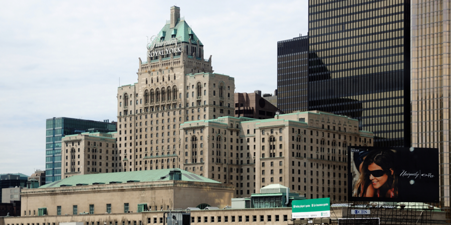
M109 173L97 173L86 175L74 175L49 184L40 186L39 188L60 187L60 185L75 186L77 184L92 185L93 183L105 183L110 182L126 183L128 180L134 180L135 182L151 182L160 180L169 180L169 169L153 169L153 170L141 170L130 172L109 172ZM195 181L195 182L207 182L207 183L220 183L216 180L208 179L197 174L181 170L182 180ZM161 178L163 177L164 178Z

